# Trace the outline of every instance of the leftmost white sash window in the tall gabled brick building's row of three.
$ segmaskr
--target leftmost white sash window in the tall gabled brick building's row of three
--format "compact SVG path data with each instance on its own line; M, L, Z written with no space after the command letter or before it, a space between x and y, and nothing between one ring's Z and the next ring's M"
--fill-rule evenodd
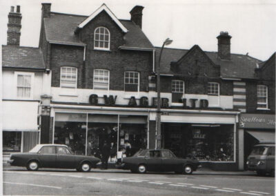
M77 88L77 68L61 67L61 88Z

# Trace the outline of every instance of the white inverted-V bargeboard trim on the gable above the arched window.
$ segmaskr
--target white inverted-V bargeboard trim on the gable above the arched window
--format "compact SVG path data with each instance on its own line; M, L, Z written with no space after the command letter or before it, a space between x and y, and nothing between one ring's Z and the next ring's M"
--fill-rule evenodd
M117 19L115 14L113 14L111 10L108 8L108 6L106 6L106 4L104 3L95 12L93 12L87 19L82 21L77 27L83 28L84 26L86 26L87 23L89 23L92 19L94 19L103 10L106 11L106 13L108 13L108 15L112 18L113 21L115 21L115 23L117 23L117 26L119 26L119 28L121 28L123 32L128 32L128 30L124 27L124 25Z

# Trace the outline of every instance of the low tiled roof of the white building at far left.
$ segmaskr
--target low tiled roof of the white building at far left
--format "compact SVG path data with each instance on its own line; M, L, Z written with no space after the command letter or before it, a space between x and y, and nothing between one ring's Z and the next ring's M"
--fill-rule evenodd
M2 66L3 68L46 68L39 48L22 46L2 46Z

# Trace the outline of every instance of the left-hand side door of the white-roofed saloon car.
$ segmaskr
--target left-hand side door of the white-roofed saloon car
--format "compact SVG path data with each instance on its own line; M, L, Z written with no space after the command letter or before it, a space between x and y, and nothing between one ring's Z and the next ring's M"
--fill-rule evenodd
M38 152L38 157L41 168L55 167L57 159L55 146L43 146Z

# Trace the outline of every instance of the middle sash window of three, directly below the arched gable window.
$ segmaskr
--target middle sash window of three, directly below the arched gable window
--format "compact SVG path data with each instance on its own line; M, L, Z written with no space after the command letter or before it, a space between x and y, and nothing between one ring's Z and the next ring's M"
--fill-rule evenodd
M109 90L109 70L94 70L93 88Z

